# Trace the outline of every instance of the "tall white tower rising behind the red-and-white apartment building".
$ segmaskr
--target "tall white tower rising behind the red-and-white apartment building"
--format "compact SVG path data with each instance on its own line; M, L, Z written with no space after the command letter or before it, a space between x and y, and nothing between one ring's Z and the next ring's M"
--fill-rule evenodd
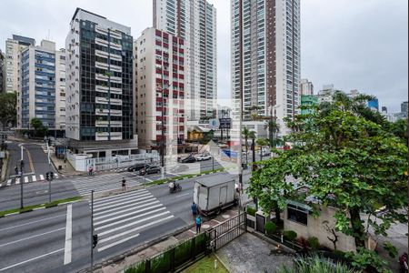
M206 0L153 0L154 27L185 40L188 121L214 116L217 98L216 10Z

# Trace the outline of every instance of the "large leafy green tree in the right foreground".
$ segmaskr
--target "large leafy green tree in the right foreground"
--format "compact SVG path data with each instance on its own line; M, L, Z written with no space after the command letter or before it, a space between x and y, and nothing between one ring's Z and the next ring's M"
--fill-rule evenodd
M368 216L377 235L386 236L394 221L407 221L400 212L407 207L407 147L401 139L346 107L295 116L289 123L297 128L288 136L293 148L263 162L248 189L265 211L274 203L284 208L288 198L304 200L294 177L323 206L338 207L334 227L354 237L357 248L364 247L365 238L360 213ZM374 221L370 216L380 206L385 206L384 214Z

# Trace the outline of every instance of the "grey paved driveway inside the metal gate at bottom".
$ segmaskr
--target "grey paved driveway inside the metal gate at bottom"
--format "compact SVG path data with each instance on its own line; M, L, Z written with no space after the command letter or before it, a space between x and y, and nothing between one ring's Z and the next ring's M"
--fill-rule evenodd
M283 265L291 267L293 257L271 254L275 248L275 245L247 232L217 250L216 254L234 273L275 272Z

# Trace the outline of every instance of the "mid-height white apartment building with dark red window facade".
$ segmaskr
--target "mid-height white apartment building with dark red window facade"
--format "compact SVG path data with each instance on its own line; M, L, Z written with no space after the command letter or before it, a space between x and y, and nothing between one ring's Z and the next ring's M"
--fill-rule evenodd
M166 148L176 149L185 139L184 48L184 39L154 27L146 28L135 41L135 113L140 147L159 149L164 141Z

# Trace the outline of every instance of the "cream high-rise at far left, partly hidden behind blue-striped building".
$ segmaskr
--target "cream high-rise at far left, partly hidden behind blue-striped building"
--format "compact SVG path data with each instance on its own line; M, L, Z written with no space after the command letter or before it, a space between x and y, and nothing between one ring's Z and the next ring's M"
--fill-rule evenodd
M20 54L29 45L35 45L35 39L13 35L13 38L5 41L5 92L12 93L20 90Z

